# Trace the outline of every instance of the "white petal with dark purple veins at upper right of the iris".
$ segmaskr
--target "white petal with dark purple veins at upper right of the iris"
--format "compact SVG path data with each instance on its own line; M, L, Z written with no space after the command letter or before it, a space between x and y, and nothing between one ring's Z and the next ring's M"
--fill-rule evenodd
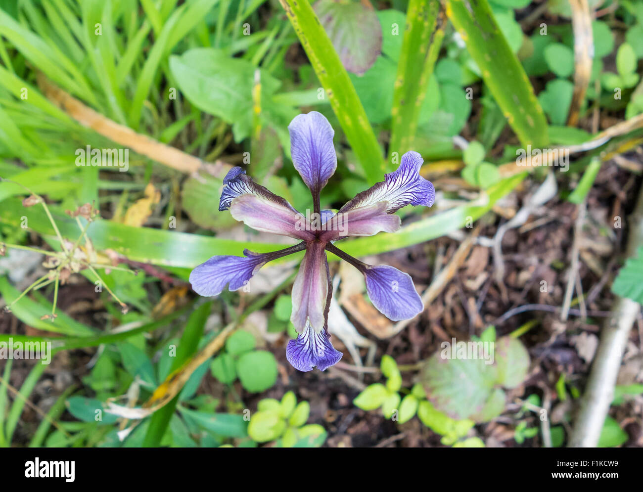
M389 172L385 175L384 181L358 193L356 197L341 207L340 213L383 200L389 203L386 209L388 214L392 214L406 205L433 205L435 188L433 188L431 181L420 176L422 162L424 161L418 152L413 150L406 152L395 172Z

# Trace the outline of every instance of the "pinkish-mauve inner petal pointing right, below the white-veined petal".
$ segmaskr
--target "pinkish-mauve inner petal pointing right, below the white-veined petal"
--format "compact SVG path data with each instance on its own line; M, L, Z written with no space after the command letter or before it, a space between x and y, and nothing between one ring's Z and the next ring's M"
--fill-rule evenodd
M339 212L323 224L326 232L320 241L329 242L347 236L372 236L378 232L395 232L400 228L400 218L386 213L387 201Z

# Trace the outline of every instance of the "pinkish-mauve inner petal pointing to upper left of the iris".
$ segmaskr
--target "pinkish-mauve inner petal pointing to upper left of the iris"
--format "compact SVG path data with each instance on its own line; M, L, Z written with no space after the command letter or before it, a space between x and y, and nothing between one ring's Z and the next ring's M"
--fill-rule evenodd
M302 214L276 201L257 195L245 194L235 197L230 205L230 214L237 221L263 232L312 241L314 235L306 226Z

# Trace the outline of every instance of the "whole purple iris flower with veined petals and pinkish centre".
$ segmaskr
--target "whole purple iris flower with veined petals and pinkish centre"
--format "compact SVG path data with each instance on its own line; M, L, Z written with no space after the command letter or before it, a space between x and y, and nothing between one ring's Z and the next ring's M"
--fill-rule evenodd
M272 253L245 250L243 257L213 256L190 273L192 288L202 296L216 296L228 286L235 291L248 283L267 262L305 251L293 284L291 322L298 333L290 340L286 358L295 369L325 370L341 359L328 333L328 311L332 282L326 251L359 269L366 279L371 302L393 321L413 318L424 310L422 300L408 273L387 265L367 265L341 251L333 243L349 236L370 236L380 231L395 232L400 218L394 212L405 205L431 206L435 190L419 174L422 158L406 152L399 168L384 181L341 207L337 214L320 210L320 192L337 168L332 143L334 130L320 113L298 114L288 126L294 167L312 193L312 215L300 214L284 198L255 183L240 167L223 180L219 210L249 227L298 239L290 248Z

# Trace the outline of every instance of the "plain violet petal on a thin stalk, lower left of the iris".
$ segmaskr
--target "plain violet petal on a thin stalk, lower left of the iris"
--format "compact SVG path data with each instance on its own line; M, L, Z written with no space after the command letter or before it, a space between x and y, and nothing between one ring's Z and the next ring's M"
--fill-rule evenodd
M217 296L228 285L235 291L248 283L250 278L267 262L265 255L244 251L242 256L213 256L190 273L192 289L202 296Z

